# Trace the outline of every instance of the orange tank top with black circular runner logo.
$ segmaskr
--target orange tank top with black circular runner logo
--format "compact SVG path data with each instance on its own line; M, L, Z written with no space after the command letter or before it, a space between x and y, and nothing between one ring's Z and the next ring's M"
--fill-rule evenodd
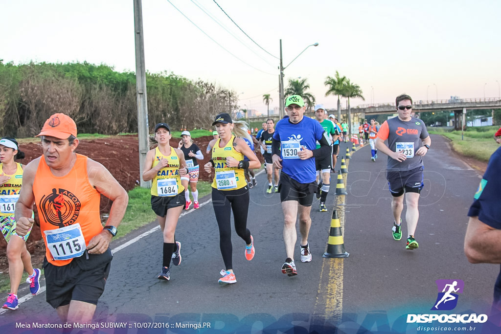
M85 155L77 154L75 165L67 175L54 176L42 156L35 174L33 193L45 241L45 255L56 266L66 265L73 259L55 260L47 247L44 231L79 223L88 245L103 230L99 216L101 195L89 182L87 159Z

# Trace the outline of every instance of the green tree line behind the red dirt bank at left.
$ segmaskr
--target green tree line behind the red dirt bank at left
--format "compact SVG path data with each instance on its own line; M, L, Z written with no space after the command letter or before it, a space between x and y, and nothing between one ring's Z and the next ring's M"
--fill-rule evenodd
M236 92L215 83L163 72L146 73L146 87L150 131L159 122L172 130L209 128L215 115L237 109ZM136 75L87 62L0 60L2 136L33 137L58 112L71 116L79 133L136 133Z

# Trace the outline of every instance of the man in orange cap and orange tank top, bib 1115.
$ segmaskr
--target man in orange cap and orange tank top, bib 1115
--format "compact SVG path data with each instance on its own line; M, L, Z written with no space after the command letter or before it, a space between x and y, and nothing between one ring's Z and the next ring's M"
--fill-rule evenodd
M17 232L23 236L33 226L36 204L46 247L47 302L64 322L90 323L110 271L108 245L129 197L103 165L75 153L77 126L69 116L52 115L39 136L43 155L24 170ZM104 227L101 194L113 202Z

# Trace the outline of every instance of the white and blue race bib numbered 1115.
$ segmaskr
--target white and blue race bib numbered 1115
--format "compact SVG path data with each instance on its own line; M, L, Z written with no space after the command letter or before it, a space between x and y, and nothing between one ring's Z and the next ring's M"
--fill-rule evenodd
M79 223L44 231L47 248L55 260L67 260L81 256L85 251L85 239Z

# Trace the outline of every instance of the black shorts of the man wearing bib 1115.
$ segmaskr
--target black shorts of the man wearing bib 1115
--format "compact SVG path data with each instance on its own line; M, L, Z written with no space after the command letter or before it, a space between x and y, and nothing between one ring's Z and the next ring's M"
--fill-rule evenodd
M110 248L103 254L88 254L86 251L63 266L54 265L44 258L47 302L54 308L68 305L71 300L96 305L103 294L112 259Z

